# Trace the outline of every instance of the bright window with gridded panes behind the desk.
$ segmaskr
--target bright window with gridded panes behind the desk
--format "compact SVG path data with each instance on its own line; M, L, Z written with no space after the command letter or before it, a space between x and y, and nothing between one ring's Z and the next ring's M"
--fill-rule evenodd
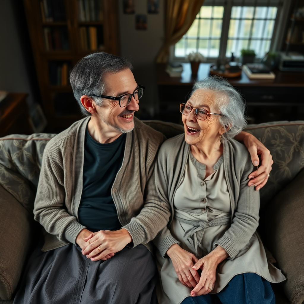
M261 58L271 49L283 0L206 0L188 32L171 52L181 59L191 52L206 58L240 57L242 49ZM173 55L171 54L171 55Z

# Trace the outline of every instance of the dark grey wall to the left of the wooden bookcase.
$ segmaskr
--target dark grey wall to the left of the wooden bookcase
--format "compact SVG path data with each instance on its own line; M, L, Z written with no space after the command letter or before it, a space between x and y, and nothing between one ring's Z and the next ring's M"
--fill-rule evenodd
M39 100L33 55L22 0L0 1L0 90L29 93Z

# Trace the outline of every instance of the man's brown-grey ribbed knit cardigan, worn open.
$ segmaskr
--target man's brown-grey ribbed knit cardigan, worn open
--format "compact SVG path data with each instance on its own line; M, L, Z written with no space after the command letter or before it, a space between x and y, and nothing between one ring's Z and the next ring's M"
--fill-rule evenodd
M34 216L46 230L43 251L75 244L85 228L78 221L82 193L85 129L90 118L74 123L45 147L34 204ZM112 186L118 218L135 247L146 244L169 220L166 202L145 202L147 192L155 195L154 164L164 136L134 118L133 131L126 134L123 164ZM75 244L76 245L76 244Z

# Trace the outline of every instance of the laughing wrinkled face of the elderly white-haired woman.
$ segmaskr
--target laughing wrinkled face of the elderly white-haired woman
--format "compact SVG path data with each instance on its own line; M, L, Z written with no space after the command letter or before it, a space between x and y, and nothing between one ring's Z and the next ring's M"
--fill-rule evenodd
M196 90L187 104L193 108L206 109L209 113L219 113L215 100L216 96L213 92ZM217 142L220 134L225 132L225 129L219 123L218 115L210 114L205 120L200 120L196 118L194 110L192 110L188 115L182 114L181 119L185 127L185 141L190 145Z

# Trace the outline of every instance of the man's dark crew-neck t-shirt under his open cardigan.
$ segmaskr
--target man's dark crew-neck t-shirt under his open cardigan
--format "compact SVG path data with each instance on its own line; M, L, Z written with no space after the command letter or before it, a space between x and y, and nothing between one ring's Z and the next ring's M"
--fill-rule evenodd
M85 133L79 222L93 232L121 228L111 188L122 163L126 134L112 143L98 143Z

